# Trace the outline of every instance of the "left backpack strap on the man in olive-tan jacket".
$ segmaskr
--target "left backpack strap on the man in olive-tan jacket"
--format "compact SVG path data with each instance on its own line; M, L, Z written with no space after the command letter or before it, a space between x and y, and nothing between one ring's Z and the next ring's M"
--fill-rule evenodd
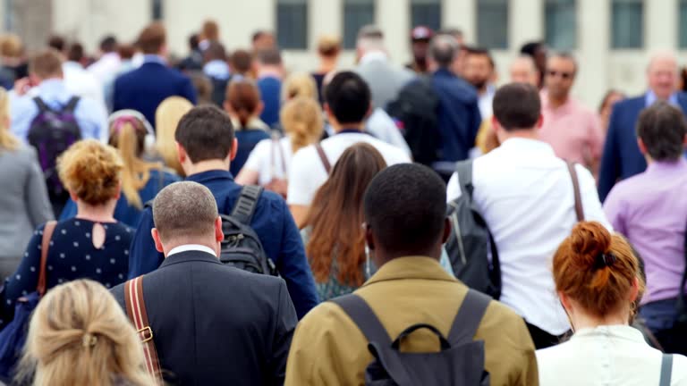
M388 332L363 298L349 294L329 301L344 309L369 342L375 342L382 347L391 347L392 342Z

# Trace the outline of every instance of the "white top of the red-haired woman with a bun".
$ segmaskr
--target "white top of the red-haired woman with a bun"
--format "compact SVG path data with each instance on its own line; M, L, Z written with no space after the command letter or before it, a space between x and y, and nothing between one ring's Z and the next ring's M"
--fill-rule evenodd
M537 351L541 386L656 385L663 353L628 325L577 331L571 340ZM673 386L687 384L687 357L673 356Z

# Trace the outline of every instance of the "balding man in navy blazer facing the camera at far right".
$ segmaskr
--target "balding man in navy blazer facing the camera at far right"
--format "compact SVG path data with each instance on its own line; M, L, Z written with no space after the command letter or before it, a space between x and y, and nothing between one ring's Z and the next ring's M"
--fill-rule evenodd
M687 95L677 91L677 60L662 53L649 62L649 90L642 96L625 99L613 108L598 176L598 197L603 201L615 182L647 169L637 145L636 123L640 112L657 100L668 101L687 114Z

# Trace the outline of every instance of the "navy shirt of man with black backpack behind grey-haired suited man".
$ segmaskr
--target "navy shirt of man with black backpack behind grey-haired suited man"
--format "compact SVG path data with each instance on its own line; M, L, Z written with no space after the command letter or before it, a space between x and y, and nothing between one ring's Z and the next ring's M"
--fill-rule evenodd
M233 181L230 172L214 170L191 174L186 178L204 185L217 201L220 214L229 214L241 194L242 186ZM147 207L131 242L129 253L129 278L140 276L157 269L165 256L157 252L150 237L155 227L152 209ZM286 281L289 294L299 317L307 314L318 304L315 280L305 257L305 249L289 208L282 197L264 191L259 198L250 227L258 235L267 257L276 265L279 274Z

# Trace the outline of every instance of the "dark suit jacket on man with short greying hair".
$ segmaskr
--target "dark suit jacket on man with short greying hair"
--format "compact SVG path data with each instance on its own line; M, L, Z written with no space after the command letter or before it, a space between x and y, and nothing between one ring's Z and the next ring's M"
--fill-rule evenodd
M284 382L297 319L283 280L226 266L205 252L186 251L167 257L142 282L165 381ZM112 293L126 309L123 284Z

